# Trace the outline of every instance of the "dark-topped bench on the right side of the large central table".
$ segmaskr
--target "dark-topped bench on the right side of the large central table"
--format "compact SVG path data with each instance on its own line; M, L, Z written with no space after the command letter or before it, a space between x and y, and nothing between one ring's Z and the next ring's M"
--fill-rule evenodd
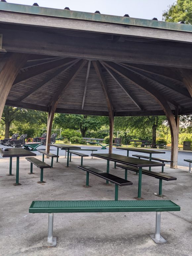
M137 167L133 167L133 166L129 166L129 165L120 165L120 164L117 164L116 166L125 169L125 179L127 178L127 170L139 173L139 168L137 168ZM145 175L154 177L156 179L159 179L159 195L158 196L163 196L162 195L162 182L163 182L163 180L169 181L169 180L176 180L177 179L177 178L172 177L172 176L168 176L168 175L165 175L165 174L162 174L162 173L156 173L156 172L152 172L152 171L148 171L148 170L144 170L144 169L142 169L142 174L145 174Z

